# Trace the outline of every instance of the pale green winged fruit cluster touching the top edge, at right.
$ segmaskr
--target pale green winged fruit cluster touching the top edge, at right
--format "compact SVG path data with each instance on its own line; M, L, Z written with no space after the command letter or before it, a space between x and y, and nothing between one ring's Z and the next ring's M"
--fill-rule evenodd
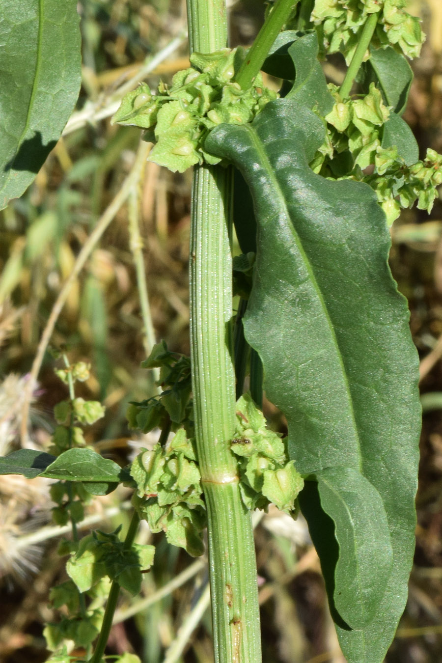
M373 46L390 44L409 58L415 58L425 35L419 19L404 11L406 4L407 0L315 0L311 21L315 23L324 52L340 51L349 64L367 18L377 13Z

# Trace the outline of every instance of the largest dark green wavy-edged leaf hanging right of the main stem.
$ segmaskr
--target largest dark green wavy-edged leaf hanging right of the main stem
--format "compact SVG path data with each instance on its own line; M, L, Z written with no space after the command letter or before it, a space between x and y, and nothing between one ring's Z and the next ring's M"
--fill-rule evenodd
M387 514L393 569L387 583L383 576L384 596L378 600L379 583L368 625L349 630L337 620L347 660L377 663L404 609L414 551L417 355L388 268L384 213L368 186L310 170L322 141L321 120L280 99L252 125L217 127L206 147L233 161L254 199L258 246L245 333L262 359L268 397L286 414L290 455L303 475L329 467L363 475ZM329 497L321 501L330 511ZM382 527L378 505L372 519ZM338 544L341 563L353 564L351 547ZM382 548L369 550L384 568ZM335 573L331 603L341 591ZM349 620L351 605L345 613Z

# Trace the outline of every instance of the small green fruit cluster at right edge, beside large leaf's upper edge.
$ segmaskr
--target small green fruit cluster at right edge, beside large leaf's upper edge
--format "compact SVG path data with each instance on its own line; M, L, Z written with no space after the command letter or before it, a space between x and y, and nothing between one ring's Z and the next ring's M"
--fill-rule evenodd
M379 148L374 162L374 174L365 176L363 181L376 191L390 225L400 210L411 208L416 200L419 210L432 210L437 186L442 184L441 154L428 149L423 161L407 166L396 147Z

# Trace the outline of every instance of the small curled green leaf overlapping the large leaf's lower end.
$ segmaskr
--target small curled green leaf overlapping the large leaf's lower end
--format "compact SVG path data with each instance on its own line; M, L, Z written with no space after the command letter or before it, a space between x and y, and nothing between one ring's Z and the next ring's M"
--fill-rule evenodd
M316 512L309 500L311 481L300 506L311 514L309 522L315 523L310 528L311 537L317 549L323 550L321 558L327 558L324 578L333 605L349 627L358 629L375 617L392 570L393 552L382 498L370 481L351 467L329 467L315 479L321 507L334 523L339 546L336 558L327 548L329 537L315 522Z

